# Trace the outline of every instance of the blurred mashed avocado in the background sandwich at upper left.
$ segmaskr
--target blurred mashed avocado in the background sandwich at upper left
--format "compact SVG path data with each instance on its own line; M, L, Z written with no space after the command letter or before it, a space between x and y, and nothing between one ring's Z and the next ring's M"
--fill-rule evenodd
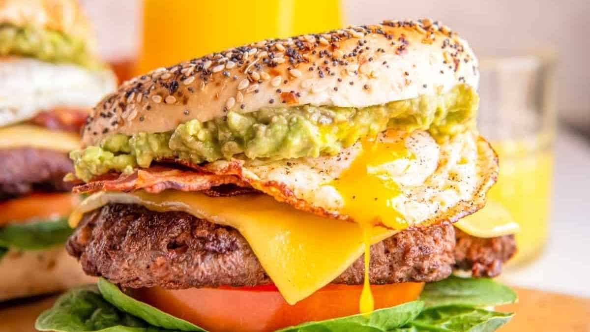
M0 56L24 56L55 63L74 63L91 69L100 62L89 53L84 40L36 27L0 25Z

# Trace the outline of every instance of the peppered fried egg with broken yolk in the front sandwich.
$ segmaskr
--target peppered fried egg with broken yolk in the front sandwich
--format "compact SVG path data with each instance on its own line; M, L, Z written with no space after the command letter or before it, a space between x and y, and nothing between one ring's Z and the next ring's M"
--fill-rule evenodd
M497 157L475 132L438 143L428 132L387 132L335 156L216 161L204 169L236 174L297 209L392 229L456 221L485 203Z

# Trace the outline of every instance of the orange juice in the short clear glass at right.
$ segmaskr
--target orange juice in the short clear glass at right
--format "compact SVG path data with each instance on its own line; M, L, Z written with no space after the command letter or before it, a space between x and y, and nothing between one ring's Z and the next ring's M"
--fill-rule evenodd
M488 199L501 203L520 225L518 252L510 263L530 261L540 253L548 236L553 151L546 138L492 145L500 158L500 175Z

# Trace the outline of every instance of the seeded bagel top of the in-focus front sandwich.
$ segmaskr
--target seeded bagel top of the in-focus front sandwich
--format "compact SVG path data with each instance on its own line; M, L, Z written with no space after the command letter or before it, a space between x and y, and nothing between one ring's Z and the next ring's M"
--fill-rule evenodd
M467 42L430 19L264 40L129 80L94 108L83 145L112 134L281 106L361 108L477 87Z

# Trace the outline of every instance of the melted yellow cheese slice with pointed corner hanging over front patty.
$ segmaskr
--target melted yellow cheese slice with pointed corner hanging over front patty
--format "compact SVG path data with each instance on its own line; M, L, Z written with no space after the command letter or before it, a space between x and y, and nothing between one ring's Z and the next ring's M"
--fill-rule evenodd
M184 211L234 227L248 241L264 271L287 303L295 304L332 282L362 255L367 245L396 233L296 210L266 195L208 197L168 190L159 194L100 192L70 216L75 227L84 213L109 203L141 204L153 211Z

